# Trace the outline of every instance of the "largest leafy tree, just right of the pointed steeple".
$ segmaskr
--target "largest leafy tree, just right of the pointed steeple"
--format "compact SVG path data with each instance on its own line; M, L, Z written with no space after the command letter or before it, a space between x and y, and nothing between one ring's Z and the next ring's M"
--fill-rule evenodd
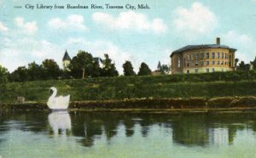
M88 52L79 50L79 53L73 57L70 62L69 69L71 70L72 76L84 78L85 76L98 76L99 75L99 64L95 62L95 59Z

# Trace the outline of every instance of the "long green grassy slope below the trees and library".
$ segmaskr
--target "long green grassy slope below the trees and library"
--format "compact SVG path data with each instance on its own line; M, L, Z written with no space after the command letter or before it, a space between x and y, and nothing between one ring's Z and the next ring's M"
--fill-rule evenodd
M12 82L0 85L0 102L46 101L49 87L71 100L132 98L190 98L256 95L254 71L175 76L118 76L38 82Z

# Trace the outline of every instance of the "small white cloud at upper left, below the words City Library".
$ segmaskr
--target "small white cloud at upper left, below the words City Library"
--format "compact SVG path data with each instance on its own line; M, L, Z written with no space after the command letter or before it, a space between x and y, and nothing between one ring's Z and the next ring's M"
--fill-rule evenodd
M24 19L21 17L15 18L15 25L19 27L20 31L28 35L33 35L38 31L38 25L36 21L24 22Z

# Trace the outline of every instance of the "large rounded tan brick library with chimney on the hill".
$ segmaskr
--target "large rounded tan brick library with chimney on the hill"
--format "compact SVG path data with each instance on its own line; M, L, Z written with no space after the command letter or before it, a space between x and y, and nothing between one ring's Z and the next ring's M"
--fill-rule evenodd
M172 74L233 71L235 48L216 44L188 45L172 52Z

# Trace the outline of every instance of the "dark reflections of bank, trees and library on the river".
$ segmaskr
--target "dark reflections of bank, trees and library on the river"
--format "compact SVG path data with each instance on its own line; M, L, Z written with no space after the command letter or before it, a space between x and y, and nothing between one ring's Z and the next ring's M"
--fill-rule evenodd
M15 125L17 122L19 126ZM50 114L22 113L2 116L0 128L0 144L4 133L20 129L75 137L75 141L85 147L93 146L96 140L111 143L110 140L119 137L119 134L126 138L148 138L151 133L155 137L162 137L161 134L164 134L166 138L172 138L170 144L206 147L233 144L238 131L250 130L255 133L256 114L174 115L56 111ZM161 129L164 133L159 132Z

